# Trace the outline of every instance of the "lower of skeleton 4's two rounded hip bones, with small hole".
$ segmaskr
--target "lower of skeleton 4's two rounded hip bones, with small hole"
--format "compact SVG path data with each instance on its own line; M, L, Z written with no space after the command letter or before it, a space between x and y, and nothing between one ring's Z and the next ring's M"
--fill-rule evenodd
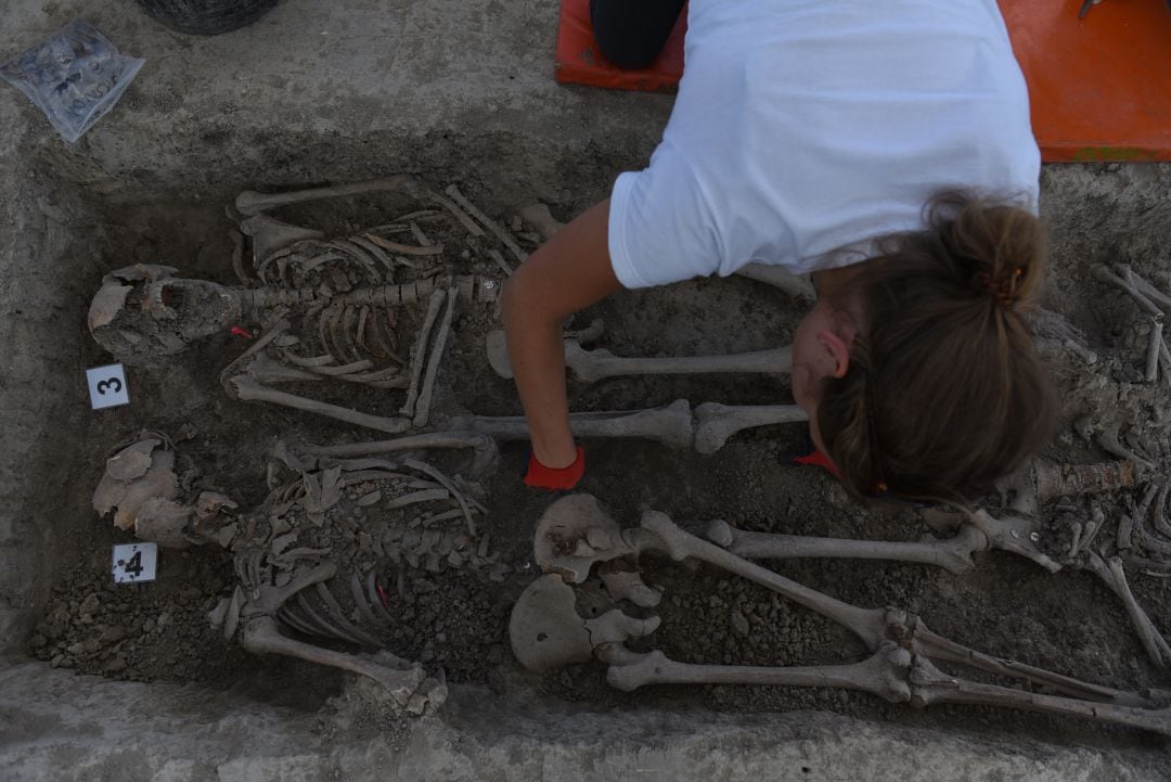
M530 583L513 605L508 639L521 665L543 673L584 663L601 644L649 636L658 625L658 617L636 619L621 609L584 619L577 613L574 590L548 575Z

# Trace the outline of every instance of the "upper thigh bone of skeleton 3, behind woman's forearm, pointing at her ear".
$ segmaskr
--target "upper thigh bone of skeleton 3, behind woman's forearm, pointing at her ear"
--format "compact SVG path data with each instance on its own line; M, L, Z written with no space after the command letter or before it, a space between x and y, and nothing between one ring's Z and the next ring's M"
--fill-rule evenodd
M502 339L489 335L487 341L488 363L497 375L513 376L508 362L508 348ZM566 366L582 383L597 383L608 377L631 375L704 375L720 372L759 372L765 375L788 375L793 368L793 349L758 350L749 354L727 356L685 356L670 358L626 358L615 356L609 350L596 348L586 350L577 339L566 339Z

